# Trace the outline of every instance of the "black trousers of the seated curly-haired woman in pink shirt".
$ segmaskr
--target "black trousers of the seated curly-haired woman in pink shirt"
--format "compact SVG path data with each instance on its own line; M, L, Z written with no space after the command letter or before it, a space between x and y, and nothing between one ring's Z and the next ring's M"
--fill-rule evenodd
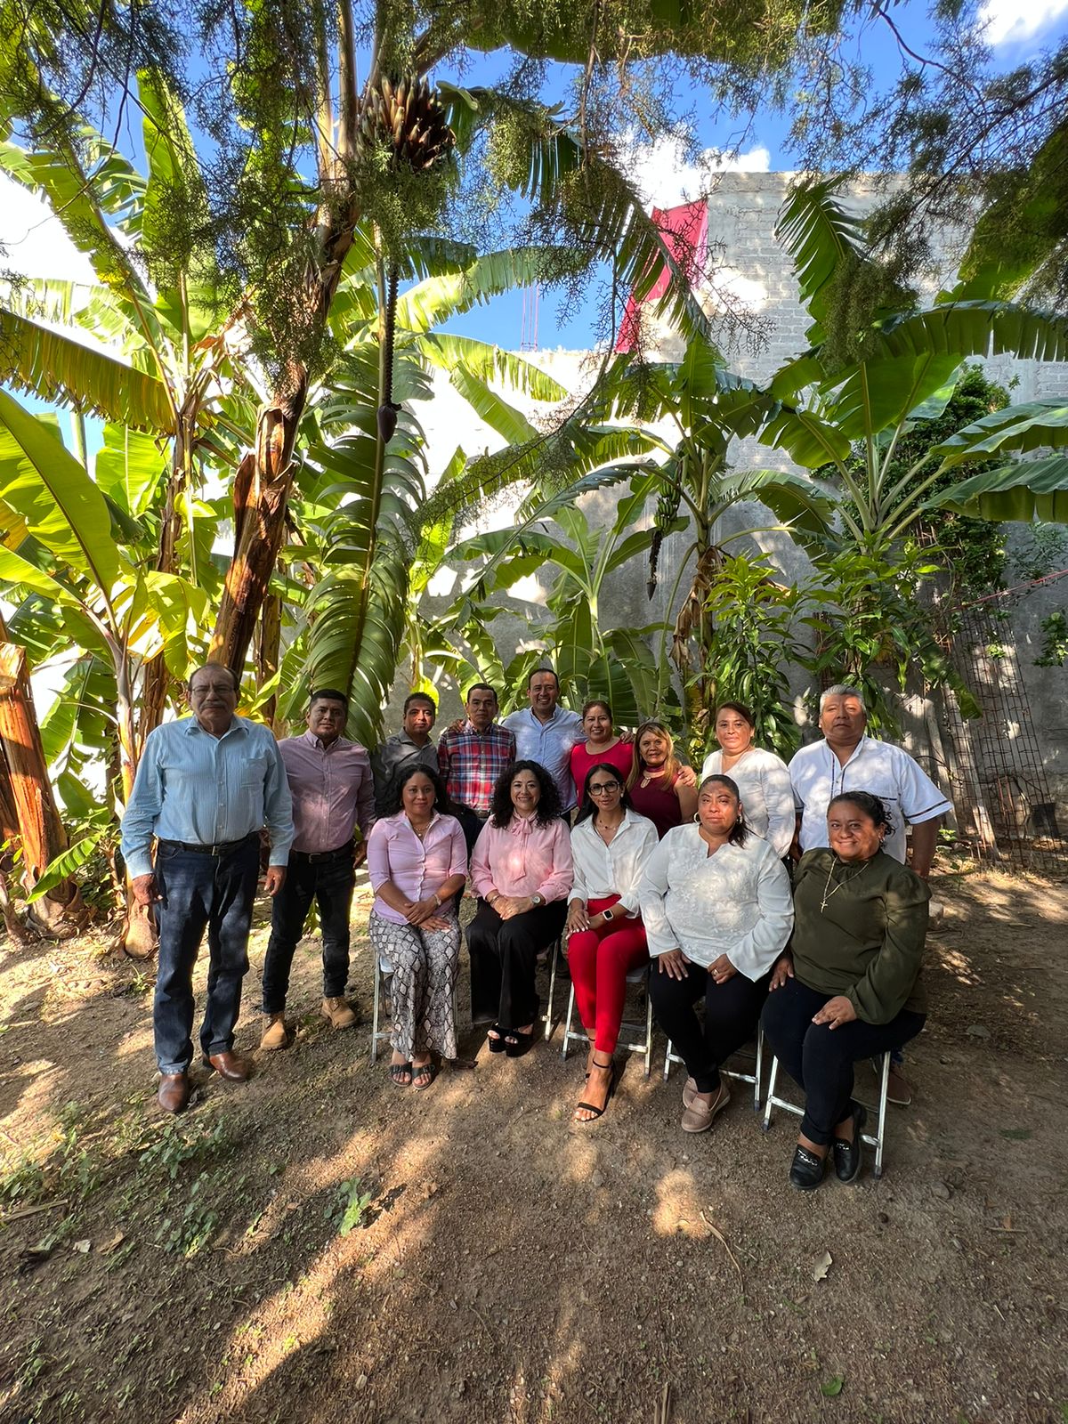
M493 906L478 899L476 916L467 926L473 1020L496 1020L501 1028L523 1028L534 1021L537 958L560 937L565 918L567 900L501 920Z

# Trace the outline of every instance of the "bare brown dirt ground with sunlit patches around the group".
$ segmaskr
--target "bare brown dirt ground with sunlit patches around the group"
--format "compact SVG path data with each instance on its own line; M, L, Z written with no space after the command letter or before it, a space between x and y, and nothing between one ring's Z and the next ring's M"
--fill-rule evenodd
M0 1420L1064 1424L1068 883L960 873L936 896L886 1173L869 1153L857 1186L805 1196L796 1124L760 1132L743 1085L679 1132L659 1034L591 1126L560 1028L518 1061L467 1032L473 1069L390 1087L359 937L359 1028L318 1017L308 940L296 1045L246 1087L198 1071L165 1119L151 965L7 946Z

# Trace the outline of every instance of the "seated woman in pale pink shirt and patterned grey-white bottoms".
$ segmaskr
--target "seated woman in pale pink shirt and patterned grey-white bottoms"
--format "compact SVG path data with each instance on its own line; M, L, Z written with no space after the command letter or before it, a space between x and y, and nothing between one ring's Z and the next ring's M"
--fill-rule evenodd
M367 839L370 946L376 964L384 958L393 967L389 1075L399 1088L430 1087L433 1052L456 1058L460 921L453 897L467 880L467 847L446 807L437 775L410 766L392 787L392 815L376 820Z

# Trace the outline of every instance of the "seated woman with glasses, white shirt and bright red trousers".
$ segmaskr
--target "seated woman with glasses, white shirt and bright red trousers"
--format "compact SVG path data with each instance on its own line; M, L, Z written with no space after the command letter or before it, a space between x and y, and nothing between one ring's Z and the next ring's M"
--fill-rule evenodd
M567 963L590 1037L587 1087L575 1108L577 1122L600 1118L615 1085L612 1054L627 975L649 958L638 918L638 881L656 844L656 827L632 809L619 769L611 762L591 766L571 830L575 884L567 913Z

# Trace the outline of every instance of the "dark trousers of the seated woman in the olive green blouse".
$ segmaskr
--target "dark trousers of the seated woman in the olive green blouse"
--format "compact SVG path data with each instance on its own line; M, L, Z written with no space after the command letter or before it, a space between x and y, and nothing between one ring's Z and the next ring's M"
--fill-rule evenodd
M809 1142L820 1145L832 1141L834 1128L850 1114L853 1064L900 1048L924 1025L923 1014L906 1008L889 1024L866 1024L862 1018L839 1028L813 1024L812 1015L833 997L799 978L786 980L768 995L762 1015L775 1057L805 1091L800 1129Z

